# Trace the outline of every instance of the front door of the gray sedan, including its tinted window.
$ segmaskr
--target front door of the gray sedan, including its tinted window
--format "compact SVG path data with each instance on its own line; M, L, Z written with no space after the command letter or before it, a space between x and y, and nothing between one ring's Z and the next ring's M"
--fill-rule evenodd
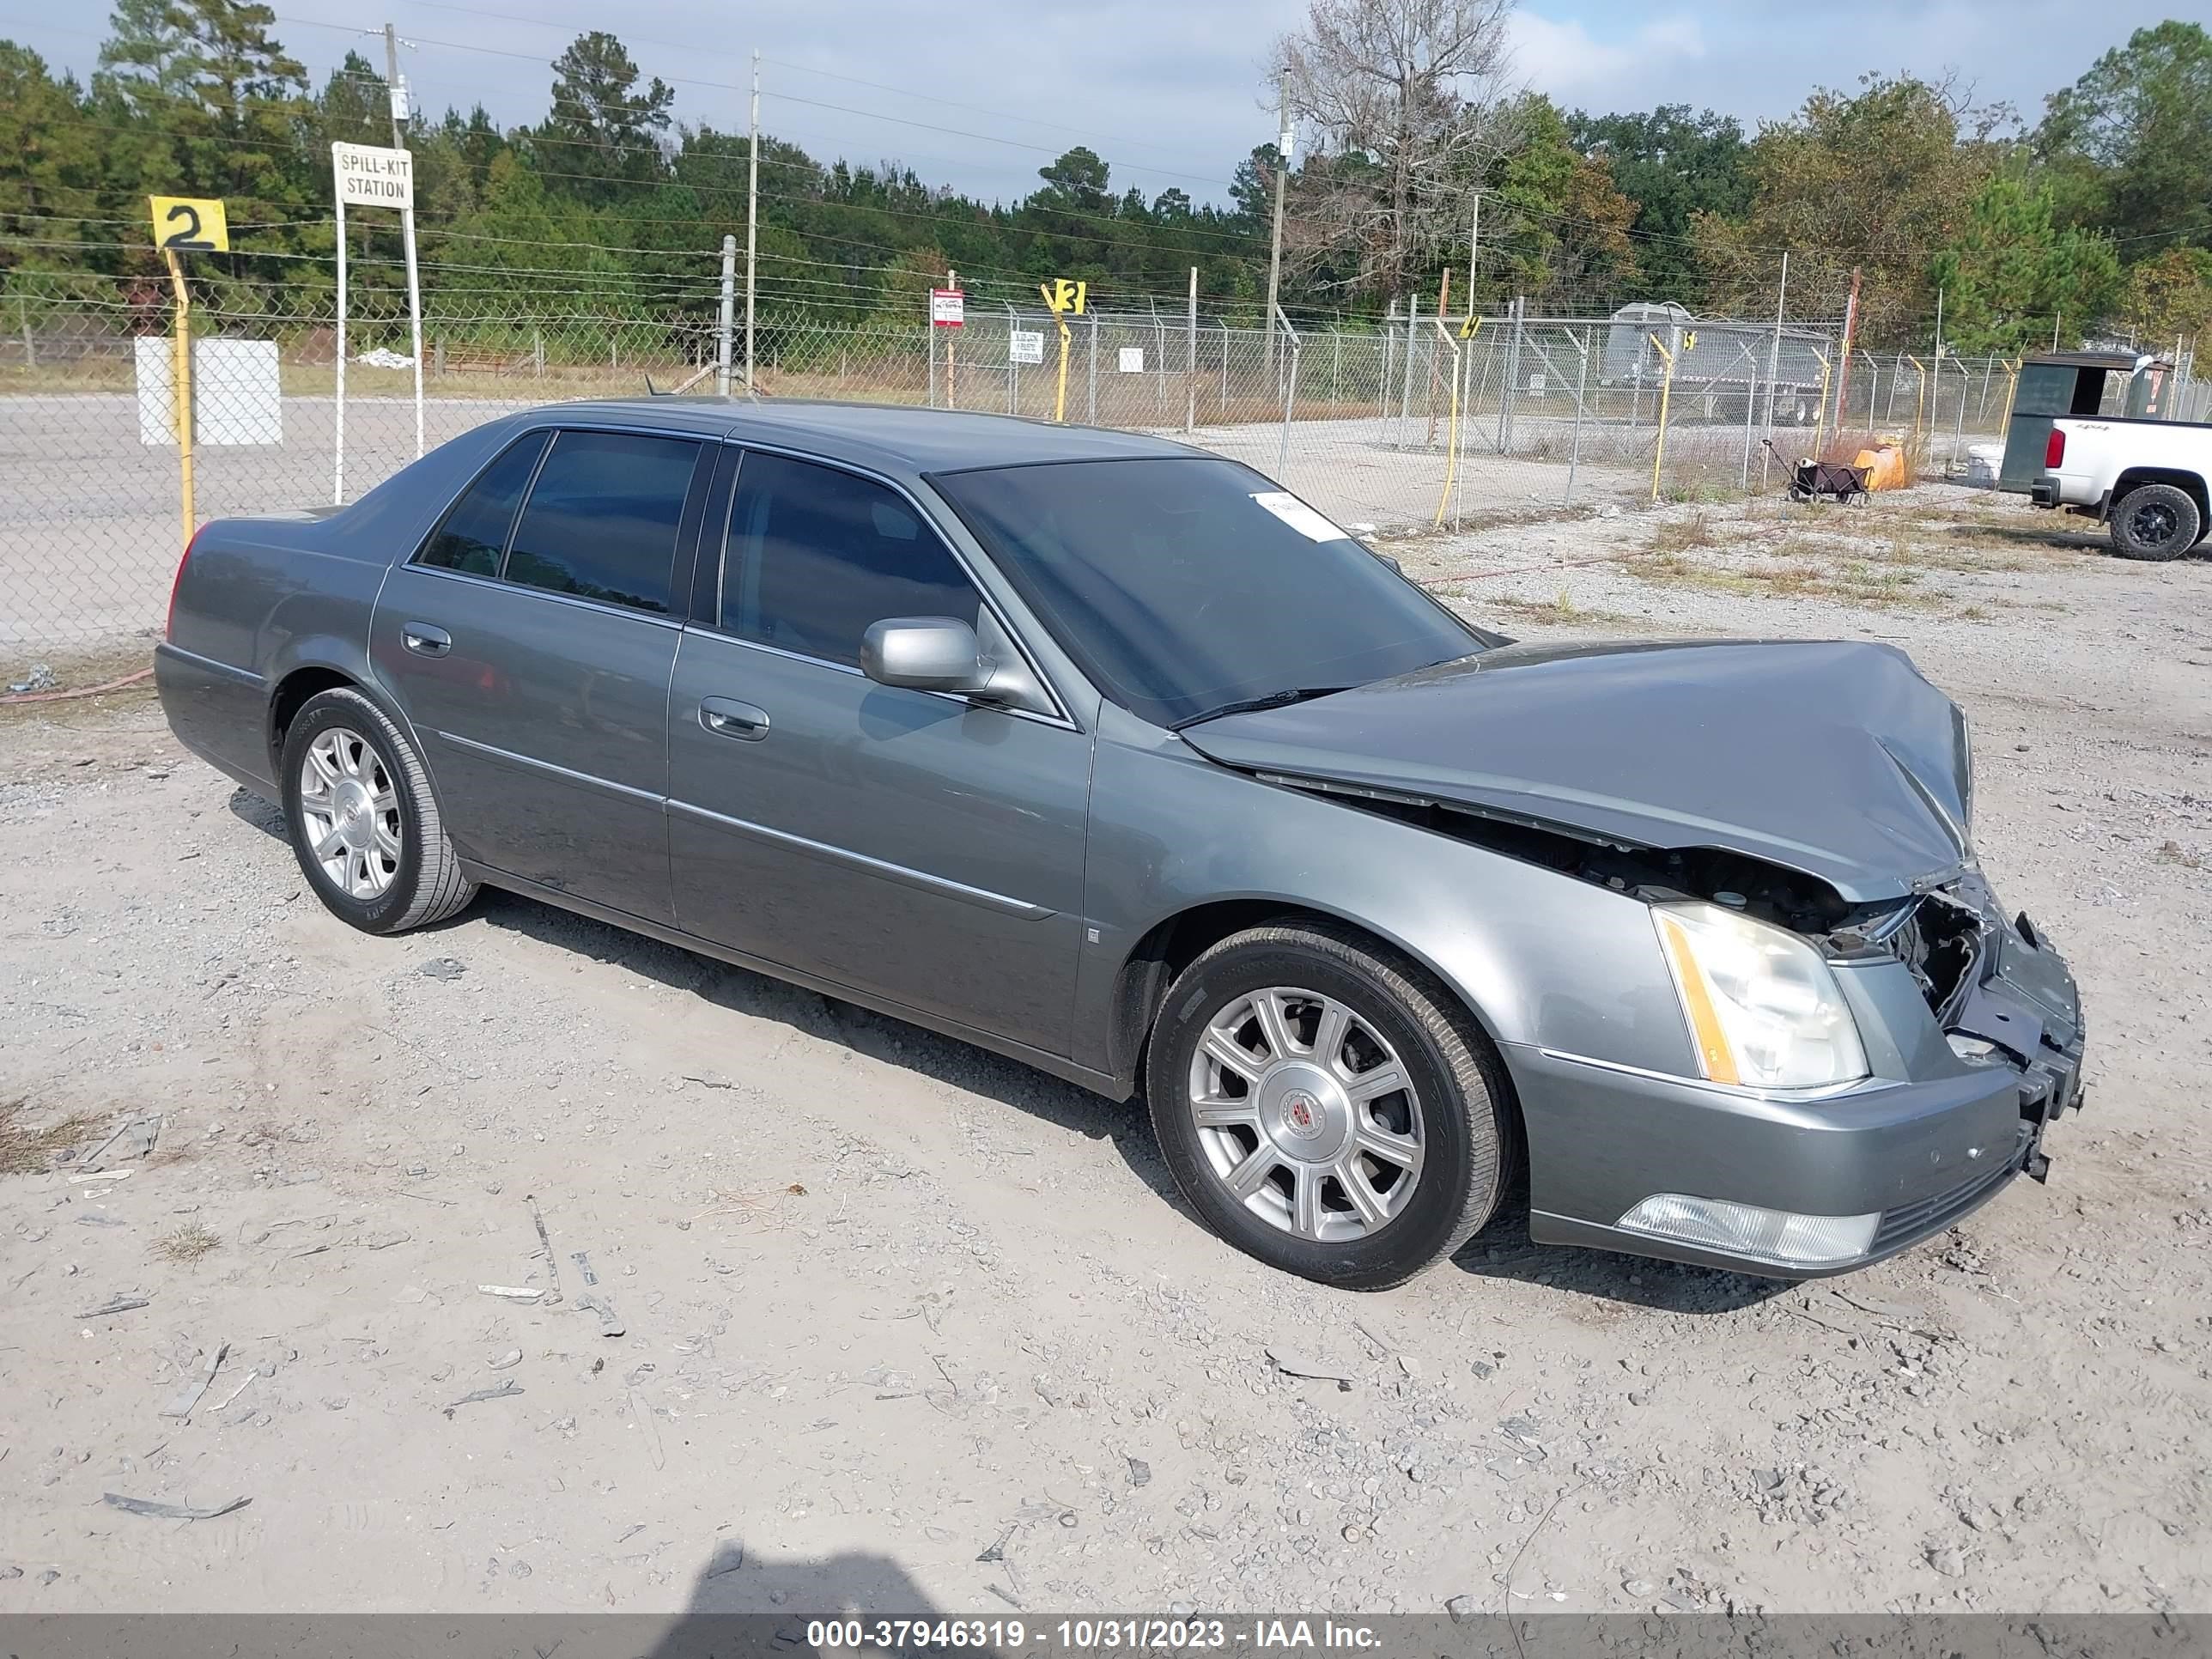
M754 449L728 500L668 703L677 925L1064 1055L1091 734L860 675L885 617L1002 630L905 491Z

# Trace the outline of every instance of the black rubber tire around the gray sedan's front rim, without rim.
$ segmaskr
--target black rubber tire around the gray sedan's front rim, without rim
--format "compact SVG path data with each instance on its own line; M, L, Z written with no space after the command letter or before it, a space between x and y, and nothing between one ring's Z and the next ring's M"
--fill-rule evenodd
M1356 1009L1398 1051L1420 1095L1420 1186L1407 1212L1367 1239L1316 1243L1270 1225L1230 1197L1199 1144L1186 1095L1206 1022L1234 998L1270 984L1318 991ZM1462 1099L1436 1037L1389 987L1334 956L1281 942L1252 942L1201 958L1175 982L1152 1033L1146 1097L1161 1157L1214 1232L1272 1267L1345 1290L1396 1285L1458 1243L1475 1164L1471 1110L1489 1115L1495 1135L1495 1108ZM1502 1148L1495 1168L1493 1179L1502 1183Z

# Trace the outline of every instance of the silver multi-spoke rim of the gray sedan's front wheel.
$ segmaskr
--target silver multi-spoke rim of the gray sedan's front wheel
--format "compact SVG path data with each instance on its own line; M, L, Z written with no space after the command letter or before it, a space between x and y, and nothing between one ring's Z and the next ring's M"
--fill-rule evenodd
M1318 991L1279 984L1214 1011L1188 1104L1214 1179L1298 1239L1365 1239L1420 1183L1422 1110L1405 1062Z

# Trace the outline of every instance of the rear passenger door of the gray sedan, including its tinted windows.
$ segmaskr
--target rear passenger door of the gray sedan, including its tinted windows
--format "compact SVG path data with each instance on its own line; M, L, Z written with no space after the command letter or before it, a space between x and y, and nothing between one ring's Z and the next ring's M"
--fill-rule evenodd
M672 595L690 588L706 451L644 431L518 438L392 571L369 633L462 856L655 922L670 920Z

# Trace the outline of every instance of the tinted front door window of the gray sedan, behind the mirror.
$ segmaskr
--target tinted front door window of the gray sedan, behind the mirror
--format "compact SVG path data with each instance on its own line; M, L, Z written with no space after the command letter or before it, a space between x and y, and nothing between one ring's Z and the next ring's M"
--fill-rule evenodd
M763 646L858 664L885 617L978 613L938 533L891 489L783 456L748 453L730 500L721 626Z

